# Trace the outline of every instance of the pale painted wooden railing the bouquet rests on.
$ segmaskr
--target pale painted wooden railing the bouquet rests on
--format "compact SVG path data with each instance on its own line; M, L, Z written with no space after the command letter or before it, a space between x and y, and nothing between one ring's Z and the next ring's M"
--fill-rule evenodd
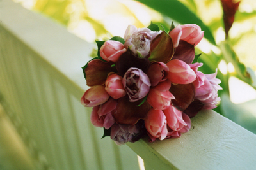
M137 154L146 169L256 167L255 134L211 110L192 118L180 138L123 146L100 139L102 129L79 101L88 88L81 67L94 47L49 18L0 1L0 103L36 169L139 169Z

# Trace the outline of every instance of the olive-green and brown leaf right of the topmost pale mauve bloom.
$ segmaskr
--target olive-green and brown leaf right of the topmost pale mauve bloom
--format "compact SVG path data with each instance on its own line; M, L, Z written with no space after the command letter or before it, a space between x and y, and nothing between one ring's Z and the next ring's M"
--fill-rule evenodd
M150 61L168 62L172 59L174 47L172 38L165 32L157 35L150 45Z

